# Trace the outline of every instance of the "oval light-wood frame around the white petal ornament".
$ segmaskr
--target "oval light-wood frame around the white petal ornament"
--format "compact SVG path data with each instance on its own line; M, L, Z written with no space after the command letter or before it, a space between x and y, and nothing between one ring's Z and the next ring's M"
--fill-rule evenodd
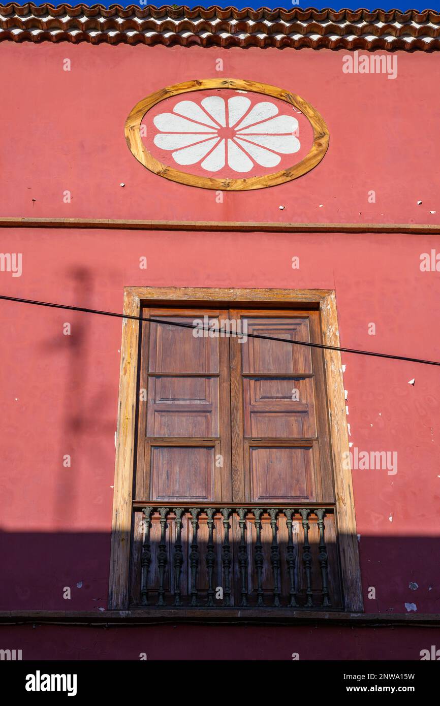
M263 93L278 100L284 100L290 105L294 105L300 110L309 120L313 128L313 144L309 153L301 162L294 164L292 167L282 169L280 172L273 174L265 174L262 177L249 177L249 179L215 179L213 177L199 177L196 174L188 174L187 172L179 172L178 169L168 167L162 164L159 160L145 148L141 139L141 122L145 113L160 101L170 98L173 95L180 93L188 93L196 90L215 90L219 88L231 88L234 90L246 90L254 93ZM268 186L277 186L284 184L285 181L292 181L302 177L302 174L310 172L316 167L316 164L321 162L328 148L328 140L330 138L328 127L319 112L314 107L304 100L304 98L295 93L290 93L283 88L275 88L275 86L267 85L266 83L256 83L236 78L208 78L201 80L185 81L177 83L168 88L148 95L143 100L136 103L131 110L125 122L125 138L129 150L136 157L138 162L141 162L144 167L150 169L150 172L159 174L160 177L178 181L179 184L187 186L198 186L201 189L216 189L218 191L247 191L249 189L266 189Z

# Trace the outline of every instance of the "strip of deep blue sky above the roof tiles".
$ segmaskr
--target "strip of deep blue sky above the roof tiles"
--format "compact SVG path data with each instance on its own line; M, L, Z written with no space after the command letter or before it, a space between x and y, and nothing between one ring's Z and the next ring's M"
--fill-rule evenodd
M43 2L41 2L41 1L39 1L39 0L33 0L33 1L34 1L35 5L43 5L43 4L44 4ZM301 3L301 0L299 0L299 1L300 1L300 3ZM6 4L6 0L4 0L4 2L5 2L5 4ZM25 3L23 2L23 3L20 3L20 4L21 4L21 5L24 5ZM52 0L52 4L58 5L58 4L61 4L61 2L57 2L57 0ZM70 2L69 4L75 6L75 5L78 4L78 3L77 3L75 0L71 0L71 2ZM88 6L93 6L94 3L93 3L93 2L88 2L88 3L84 3L84 4L85 4L85 5L88 5ZM109 6L111 6L111 5L114 5L115 3L103 0L100 4L104 5L105 7L109 7ZM117 3L117 4L122 5L122 6L124 6L124 7L129 6L129 5L139 5L139 6L141 6L141 4L140 4L139 1L138 1L138 2L133 2L133 1L132 1L132 2L124 2L124 0L121 0L121 2L119 2L119 3ZM152 4L153 4L153 3L152 3ZM155 5L158 6L158 7L160 7L160 6L162 6L162 4L165 4L165 3L157 3L157 4L155 4ZM170 3L170 4L171 4L171 3ZM179 5L180 3L177 2L176 4ZM270 8L275 8L275 7L280 7L280 6L281 6L281 7L290 9L290 8L294 7L294 5L292 4L292 0L290 0L290 2L287 2L287 0L284 0L283 3L280 3L279 0L278 0L278 2L277 2L277 1L273 1L273 0L272 0L272 1L271 1L271 0L267 0L265 3L256 3L256 2L252 2L252 1L250 1L250 2L240 2L239 0L237 0L237 1L232 1L232 0L229 0L229 1L222 1L222 0L219 0L218 2L215 2L215 3L201 3L201 2L193 2L193 3L191 3L191 2L186 2L186 3L184 3L184 4L187 5L187 6L189 6L189 7L197 7L198 5L201 5L201 6L203 6L203 7L210 7L210 6L213 5L213 4L218 5L218 6L220 6L220 7L229 7L229 6L233 5L234 7L238 7L238 8L244 8L244 7L259 8L259 7L261 7L262 5L263 5L264 7L270 7ZM329 4L328 4L328 2L320 3L319 0L316 0L316 2L314 2L313 4L307 4L307 5L306 5L306 4L304 4L304 5L303 5L303 4L300 4L299 6L301 6L302 8L315 7L315 8L323 9L323 8L327 8L327 7L329 6ZM333 2L330 6L331 6L331 8L333 8L333 10L340 10L341 8L347 7L347 3ZM297 7L297 6L295 6L295 7ZM357 7L358 7L357 5L350 5L350 8L352 8L352 9L355 9L355 8L357 8ZM398 0L397 2L387 2L386 0L383 0L383 2L379 2L379 3L378 3L377 1L376 1L375 3L363 2L362 5L361 5L361 7L368 8L369 10L375 10L377 7L380 7L380 8L383 9L383 10L390 10L390 9L392 9L392 8L396 8L396 7L397 7L399 10L405 11L405 10L410 10L410 9L424 10L424 9L427 7L427 5L426 5L426 3L417 2L417 0L414 0L414 1L411 1L411 0ZM439 10L440 10L440 0L432 0L432 1L429 3L428 7L431 8L432 10L439 11Z

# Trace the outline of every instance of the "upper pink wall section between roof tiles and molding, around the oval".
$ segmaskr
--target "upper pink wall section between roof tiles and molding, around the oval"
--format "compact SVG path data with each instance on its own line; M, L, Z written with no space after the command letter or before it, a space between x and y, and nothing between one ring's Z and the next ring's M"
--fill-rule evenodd
M4 42L1 213L438 222L429 211L440 213L440 96L433 90L439 55L396 52L398 76L388 79L343 73L345 54ZM71 60L71 71L63 70L64 59ZM222 59L223 71L216 71L216 59ZM227 193L222 204L213 191L184 189L143 169L126 147L126 116L151 92L195 78L255 80L309 101L330 131L330 148L319 168L271 191ZM63 203L66 189L70 204ZM370 190L376 191L376 203L367 201ZM280 211L280 205L287 208Z

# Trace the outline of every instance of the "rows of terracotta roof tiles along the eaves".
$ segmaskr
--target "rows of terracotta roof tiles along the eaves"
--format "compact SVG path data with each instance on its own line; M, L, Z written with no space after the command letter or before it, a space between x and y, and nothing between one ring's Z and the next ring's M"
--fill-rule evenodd
M440 13L11 3L0 5L1 40L433 51L440 49Z

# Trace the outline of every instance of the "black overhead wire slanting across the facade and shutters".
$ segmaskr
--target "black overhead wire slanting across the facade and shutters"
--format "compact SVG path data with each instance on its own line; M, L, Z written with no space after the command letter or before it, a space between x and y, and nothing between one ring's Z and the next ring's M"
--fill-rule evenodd
M134 321L149 321L150 323L161 323L161 324L166 324L170 326L180 326L181 328L197 328L200 329L201 327L198 324L191 324L191 323L181 323L179 321L169 321L168 319L163 319L163 318L151 318L151 317L144 317L144 316L133 316L132 314L126 314L126 313L116 313L115 311L100 311L99 309L87 309L84 306L69 306L69 304L54 304L50 301L37 301L35 299L21 299L20 297L6 297L6 294L0 294L0 299L4 299L5 301L18 301L21 304L35 304L36 306L50 306L53 309L67 309L68 311L82 311L83 313L96 313L99 314L100 316L114 316L115 318L130 318L134 319ZM212 330L212 328L203 328L203 330ZM224 328L219 328L215 330L215 333L221 334L230 334L229 330L225 330ZM298 346L307 346L309 348L321 348L324 350L331 350L331 351L339 351L341 353L355 353L357 355L369 355L369 356L374 356L376 358L390 358L392 360L404 360L408 361L410 363L422 363L424 365L438 365L440 366L440 361L435 361L435 360L424 360L421 358L410 358L408 356L403 356L403 355L391 355L390 353L374 353L372 351L363 351L363 350L357 350L355 348L343 348L339 346L328 346L324 345L323 343L311 343L309 341L293 341L293 340L288 340L286 338L278 338L275 336L262 336L261 334L258 333L246 333L246 334L238 334L239 337L248 337L248 338L261 338L263 340L267 341L280 341L281 343L291 343L292 345L298 345Z

